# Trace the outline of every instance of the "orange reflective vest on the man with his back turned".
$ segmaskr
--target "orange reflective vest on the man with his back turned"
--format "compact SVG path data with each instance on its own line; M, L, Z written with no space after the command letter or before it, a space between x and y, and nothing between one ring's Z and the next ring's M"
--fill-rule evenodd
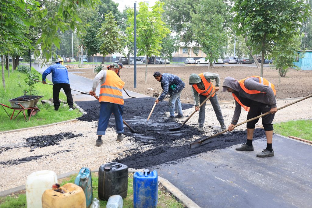
M100 89L100 102L109 102L115 104L124 104L124 97L122 96L122 88L124 81L122 81L115 71L106 70L105 82Z

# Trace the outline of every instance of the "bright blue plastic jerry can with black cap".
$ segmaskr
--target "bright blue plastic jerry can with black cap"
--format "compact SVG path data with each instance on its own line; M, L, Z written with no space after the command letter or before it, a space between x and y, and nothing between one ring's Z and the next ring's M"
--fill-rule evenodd
M158 174L156 171L135 172L133 175L134 208L156 208L158 202Z

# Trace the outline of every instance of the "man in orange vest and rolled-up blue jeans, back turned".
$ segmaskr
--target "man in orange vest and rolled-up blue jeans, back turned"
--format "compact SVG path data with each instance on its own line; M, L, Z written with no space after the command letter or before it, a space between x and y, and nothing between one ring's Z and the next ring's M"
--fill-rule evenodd
M97 128L98 139L95 142L95 146L101 146L103 144L102 135L105 135L105 131L110 119L110 115L113 113L115 116L117 141L123 140L122 133L124 132L124 124L122 114L124 111L124 97L122 96L122 88L124 82L117 75L119 71L119 65L111 64L109 70L101 70L94 78L92 89L89 94L94 96L95 89L100 84L100 118Z

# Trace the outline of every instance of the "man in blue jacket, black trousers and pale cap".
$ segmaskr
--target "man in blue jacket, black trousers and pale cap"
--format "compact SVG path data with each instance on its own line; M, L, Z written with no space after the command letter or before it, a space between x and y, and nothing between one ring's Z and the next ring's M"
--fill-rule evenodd
M71 96L71 86L69 85L67 68L62 65L62 59L56 59L55 64L49 66L42 74L42 83L46 84L46 76L52 73L53 83L53 105L54 110L58 110L60 107L59 94L61 89L64 90L67 97L67 104L69 105L69 111L74 109L74 101Z

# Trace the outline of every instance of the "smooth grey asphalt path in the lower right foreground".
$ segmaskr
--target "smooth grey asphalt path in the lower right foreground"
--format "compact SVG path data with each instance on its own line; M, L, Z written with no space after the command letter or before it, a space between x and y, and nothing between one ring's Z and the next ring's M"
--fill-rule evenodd
M311 207L311 145L274 135L268 158L256 157L266 139L254 141L253 152L236 146L154 169L200 207Z

